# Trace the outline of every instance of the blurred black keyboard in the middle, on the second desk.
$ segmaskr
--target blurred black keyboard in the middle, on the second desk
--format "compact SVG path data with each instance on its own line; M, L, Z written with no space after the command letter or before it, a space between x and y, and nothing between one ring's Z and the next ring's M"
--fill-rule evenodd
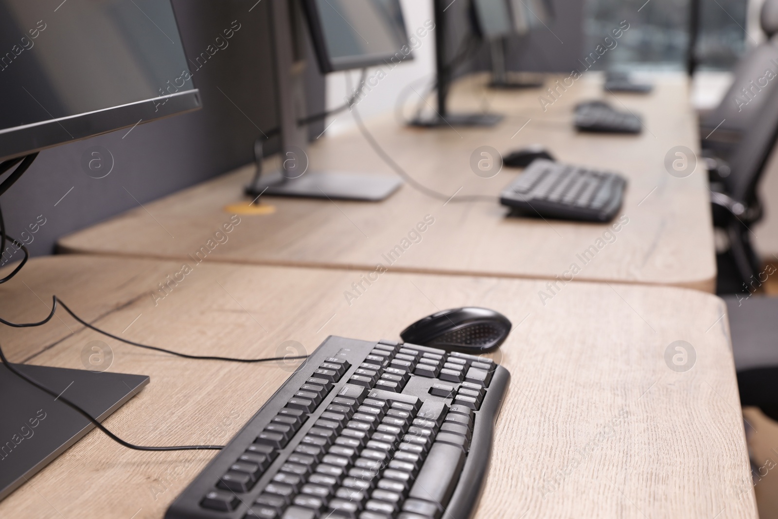
M619 174L534 160L499 201L528 215L608 222L622 206L626 179Z

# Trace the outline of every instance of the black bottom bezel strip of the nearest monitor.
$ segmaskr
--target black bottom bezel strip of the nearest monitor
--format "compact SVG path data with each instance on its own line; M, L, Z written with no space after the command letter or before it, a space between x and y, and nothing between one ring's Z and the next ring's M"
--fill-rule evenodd
M202 107L198 89L0 130L0 161ZM69 135L68 135L69 133Z

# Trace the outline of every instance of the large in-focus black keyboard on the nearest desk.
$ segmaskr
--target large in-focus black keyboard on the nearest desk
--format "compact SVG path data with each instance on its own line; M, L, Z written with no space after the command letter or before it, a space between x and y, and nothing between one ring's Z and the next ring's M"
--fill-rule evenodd
M466 519L509 380L487 358L329 337L165 517Z

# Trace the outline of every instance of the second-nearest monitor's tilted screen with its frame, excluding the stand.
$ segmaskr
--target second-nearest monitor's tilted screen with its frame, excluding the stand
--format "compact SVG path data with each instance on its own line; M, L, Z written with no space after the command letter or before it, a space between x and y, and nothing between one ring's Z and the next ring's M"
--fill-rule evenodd
M321 72L411 58L399 0L306 0Z

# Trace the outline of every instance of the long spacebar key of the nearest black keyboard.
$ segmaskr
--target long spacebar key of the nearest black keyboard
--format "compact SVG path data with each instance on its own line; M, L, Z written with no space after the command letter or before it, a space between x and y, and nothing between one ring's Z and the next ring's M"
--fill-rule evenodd
M409 495L416 499L433 501L445 508L457 486L462 465L464 451L461 447L436 442L429 449L424 466Z

